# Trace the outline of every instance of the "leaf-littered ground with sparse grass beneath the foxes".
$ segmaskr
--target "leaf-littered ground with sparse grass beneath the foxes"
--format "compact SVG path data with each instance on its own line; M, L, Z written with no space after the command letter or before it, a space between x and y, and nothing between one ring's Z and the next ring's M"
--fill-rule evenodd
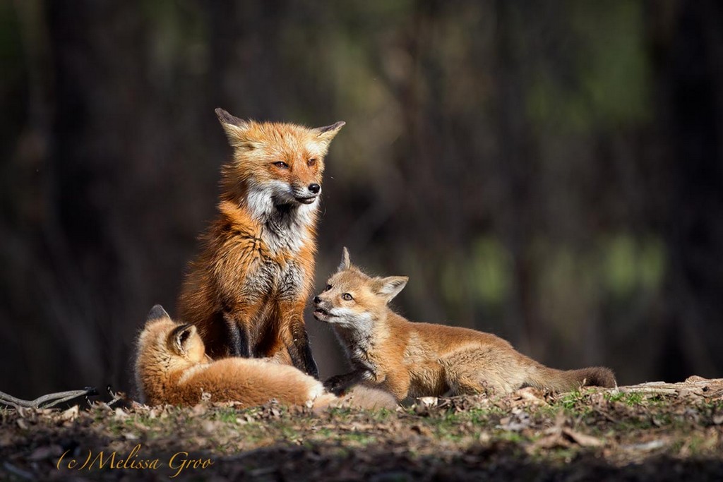
M102 398L102 397L101 397ZM2 480L723 480L723 379L393 410L0 410Z

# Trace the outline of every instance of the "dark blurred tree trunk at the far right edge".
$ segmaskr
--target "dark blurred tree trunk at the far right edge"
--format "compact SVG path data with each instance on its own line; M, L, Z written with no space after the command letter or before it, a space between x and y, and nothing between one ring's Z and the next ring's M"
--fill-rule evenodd
M719 376L721 369L712 353L723 351L723 4L681 2L669 42L657 56L672 156L659 364L663 378L676 381Z

